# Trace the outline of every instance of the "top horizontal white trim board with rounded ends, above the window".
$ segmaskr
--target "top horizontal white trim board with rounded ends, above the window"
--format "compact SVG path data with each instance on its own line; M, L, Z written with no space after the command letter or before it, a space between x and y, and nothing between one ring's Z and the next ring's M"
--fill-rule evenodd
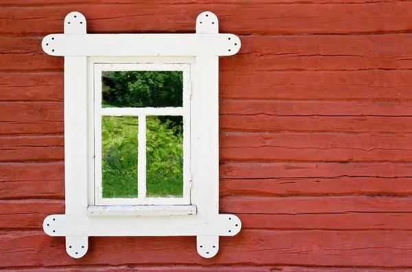
M236 45L235 45L236 43ZM233 34L49 34L52 56L231 56L240 49Z

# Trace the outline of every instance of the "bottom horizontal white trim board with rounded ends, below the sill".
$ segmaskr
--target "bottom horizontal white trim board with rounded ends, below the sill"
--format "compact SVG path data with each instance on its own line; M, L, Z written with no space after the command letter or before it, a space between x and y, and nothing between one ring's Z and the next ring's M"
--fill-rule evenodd
M43 223L43 229L49 236L234 236L238 234L240 228L240 219L232 214L215 216L55 214L47 216Z

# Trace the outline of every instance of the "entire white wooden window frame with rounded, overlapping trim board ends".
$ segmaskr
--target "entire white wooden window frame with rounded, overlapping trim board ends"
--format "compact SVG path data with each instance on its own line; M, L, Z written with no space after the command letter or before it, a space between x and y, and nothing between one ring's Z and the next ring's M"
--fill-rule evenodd
M238 36L219 34L218 19L211 12L199 14L196 34L87 34L84 16L71 12L65 18L65 34L46 36L42 47L49 55L65 57L66 211L45 218L45 233L65 236L66 251L73 258L87 252L89 236L196 236L198 253L204 258L215 256L219 236L234 236L241 229L237 216L218 212L218 56L236 54ZM186 130L190 144L185 143L190 146L186 148L190 170L185 171L190 196L183 205L147 199L95 201L95 161L101 163L95 150L95 129L100 129L95 114L161 113L159 109L98 109L95 113L94 105L101 105L95 101L95 80L101 80L95 77L95 67L111 64L159 69L190 65L190 100L183 102L183 115L190 117ZM170 111L181 114L179 109ZM143 127L146 131L139 124L139 130Z

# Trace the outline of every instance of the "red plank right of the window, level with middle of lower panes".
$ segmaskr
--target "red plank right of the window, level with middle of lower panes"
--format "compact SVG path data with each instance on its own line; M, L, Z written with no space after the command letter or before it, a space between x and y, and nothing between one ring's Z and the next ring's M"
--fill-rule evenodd
M412 161L412 135L220 133L220 159L227 161Z

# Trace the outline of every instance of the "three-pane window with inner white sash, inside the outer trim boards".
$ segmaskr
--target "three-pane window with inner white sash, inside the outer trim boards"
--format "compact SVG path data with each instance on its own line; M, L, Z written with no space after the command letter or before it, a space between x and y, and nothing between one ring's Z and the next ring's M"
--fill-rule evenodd
M94 204L190 205L190 64L93 70Z

